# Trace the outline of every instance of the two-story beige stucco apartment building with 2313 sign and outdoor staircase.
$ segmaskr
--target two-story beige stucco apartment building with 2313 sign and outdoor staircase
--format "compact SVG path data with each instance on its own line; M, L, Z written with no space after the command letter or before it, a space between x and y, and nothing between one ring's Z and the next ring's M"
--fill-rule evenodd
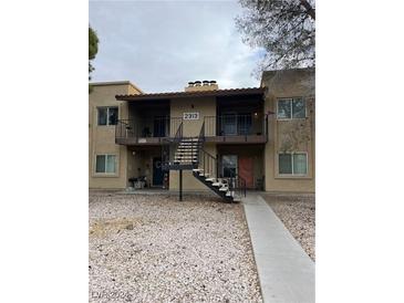
M130 82L92 85L90 188L142 180L178 190L182 180L199 191L235 177L247 189L314 191L313 70L265 72L250 88L197 81L145 94Z

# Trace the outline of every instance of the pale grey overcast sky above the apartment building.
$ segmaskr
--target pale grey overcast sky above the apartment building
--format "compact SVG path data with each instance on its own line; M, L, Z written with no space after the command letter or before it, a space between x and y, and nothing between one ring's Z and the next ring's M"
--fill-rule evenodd
M259 50L241 42L237 1L90 1L99 53L92 81L128 80L146 93L188 81L220 88L259 86Z

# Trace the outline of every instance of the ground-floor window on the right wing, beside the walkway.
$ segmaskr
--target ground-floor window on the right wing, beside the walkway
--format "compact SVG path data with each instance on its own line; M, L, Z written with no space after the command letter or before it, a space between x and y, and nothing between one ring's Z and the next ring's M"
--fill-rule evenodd
M288 153L279 154L279 175L307 175L308 154Z

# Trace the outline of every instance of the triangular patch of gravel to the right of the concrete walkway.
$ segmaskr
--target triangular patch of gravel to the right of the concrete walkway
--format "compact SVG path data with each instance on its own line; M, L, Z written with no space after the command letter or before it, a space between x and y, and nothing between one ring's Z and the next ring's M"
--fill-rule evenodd
M262 197L315 262L314 195L263 195Z

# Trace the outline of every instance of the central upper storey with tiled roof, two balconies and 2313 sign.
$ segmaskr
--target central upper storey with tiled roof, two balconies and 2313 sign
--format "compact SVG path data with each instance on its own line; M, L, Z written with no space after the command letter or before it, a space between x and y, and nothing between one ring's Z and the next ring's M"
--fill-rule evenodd
M115 124L120 145L159 145L178 133L205 142L266 143L265 87L219 90L214 81L189 82L184 92L124 94L125 115L99 109L99 122ZM108 119L111 119L108 122Z

